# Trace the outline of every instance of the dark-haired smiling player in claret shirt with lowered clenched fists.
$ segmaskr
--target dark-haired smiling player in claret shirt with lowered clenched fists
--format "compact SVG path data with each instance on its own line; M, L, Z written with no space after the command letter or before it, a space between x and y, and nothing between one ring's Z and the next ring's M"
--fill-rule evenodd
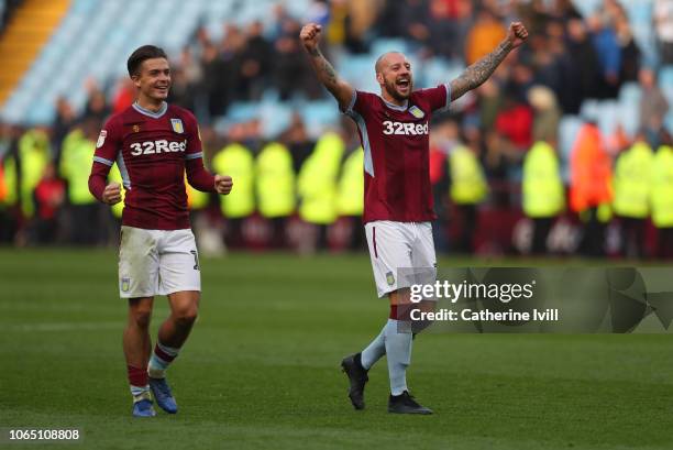
M110 167L118 165L125 189L119 250L119 294L129 300L123 349L132 414L152 417L156 415L152 394L162 409L177 413L166 369L189 336L200 299L185 173L189 184L205 193L227 195L233 182L206 171L196 118L166 102L170 67L164 51L144 45L129 57L128 68L137 97L103 125L89 190L103 204L120 202L121 186L107 182ZM153 349L150 319L156 295L168 297L170 316L162 323Z

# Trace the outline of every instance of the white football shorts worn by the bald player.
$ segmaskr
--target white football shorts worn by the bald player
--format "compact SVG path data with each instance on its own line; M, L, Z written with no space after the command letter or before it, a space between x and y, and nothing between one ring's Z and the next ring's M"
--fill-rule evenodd
M434 283L437 256L430 222L377 220L365 224L365 233L378 297L410 287L413 282L400 273L409 274L412 270Z

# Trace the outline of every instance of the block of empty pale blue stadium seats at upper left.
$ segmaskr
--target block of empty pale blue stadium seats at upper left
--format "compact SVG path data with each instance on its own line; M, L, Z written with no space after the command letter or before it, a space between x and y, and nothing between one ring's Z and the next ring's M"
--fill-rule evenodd
M147 42L164 46L170 54L179 52L211 8L210 3L231 2L165 0L162 8L156 8L151 0L74 0L53 37L5 102L2 117L13 122L37 123L53 117L53 101L63 95L75 100L76 107L84 106L87 78L93 77L100 86L112 85L125 75L129 53ZM228 8L219 7L221 11ZM54 79L53 74L59 76ZM37 86L43 88L36 89Z

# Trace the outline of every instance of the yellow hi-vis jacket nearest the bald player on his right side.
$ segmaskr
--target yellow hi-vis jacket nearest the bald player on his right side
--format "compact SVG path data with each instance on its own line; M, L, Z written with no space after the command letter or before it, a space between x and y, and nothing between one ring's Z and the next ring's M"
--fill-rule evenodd
M451 199L457 205L476 205L488 194L482 165L474 152L459 145L449 155L451 171Z

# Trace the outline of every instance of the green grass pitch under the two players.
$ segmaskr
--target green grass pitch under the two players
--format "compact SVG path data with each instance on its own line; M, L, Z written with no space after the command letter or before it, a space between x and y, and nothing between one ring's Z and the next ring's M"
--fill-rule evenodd
M139 420L115 253L0 250L0 428L84 432L31 449L673 448L671 336L426 334L408 381L435 415L386 413L385 360L355 411L339 362L387 315L366 255L201 266L200 317L169 371L180 411ZM153 330L167 311L157 298Z

